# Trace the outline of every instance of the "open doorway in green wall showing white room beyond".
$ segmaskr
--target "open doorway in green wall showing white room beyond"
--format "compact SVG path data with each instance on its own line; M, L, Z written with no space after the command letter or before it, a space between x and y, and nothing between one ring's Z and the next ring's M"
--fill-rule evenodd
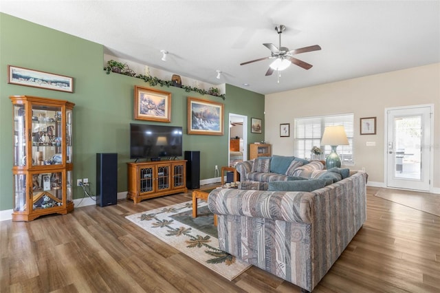
M248 160L248 116L229 113L228 166Z

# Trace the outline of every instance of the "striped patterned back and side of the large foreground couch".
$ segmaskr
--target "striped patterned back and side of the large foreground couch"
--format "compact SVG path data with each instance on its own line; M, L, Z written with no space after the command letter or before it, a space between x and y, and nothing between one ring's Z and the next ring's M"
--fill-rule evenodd
M364 171L312 192L217 188L220 248L310 291L366 220Z

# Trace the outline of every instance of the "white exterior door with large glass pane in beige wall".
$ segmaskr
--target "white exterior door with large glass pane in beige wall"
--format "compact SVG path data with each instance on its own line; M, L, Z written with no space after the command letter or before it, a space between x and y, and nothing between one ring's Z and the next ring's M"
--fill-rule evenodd
M430 191L433 105L385 110L386 186Z

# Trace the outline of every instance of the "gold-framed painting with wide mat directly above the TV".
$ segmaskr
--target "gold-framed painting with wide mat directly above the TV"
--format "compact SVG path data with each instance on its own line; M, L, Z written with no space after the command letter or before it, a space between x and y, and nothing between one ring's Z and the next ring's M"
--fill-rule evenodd
M135 120L171 122L171 93L135 85Z

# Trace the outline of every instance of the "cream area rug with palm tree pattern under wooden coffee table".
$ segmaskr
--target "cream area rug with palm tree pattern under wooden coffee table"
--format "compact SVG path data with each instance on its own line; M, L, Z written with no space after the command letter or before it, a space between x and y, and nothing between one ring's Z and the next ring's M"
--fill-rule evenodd
M219 249L217 228L206 202L199 202L197 212L197 217L192 218L192 202L184 202L126 219L232 281L251 265Z

